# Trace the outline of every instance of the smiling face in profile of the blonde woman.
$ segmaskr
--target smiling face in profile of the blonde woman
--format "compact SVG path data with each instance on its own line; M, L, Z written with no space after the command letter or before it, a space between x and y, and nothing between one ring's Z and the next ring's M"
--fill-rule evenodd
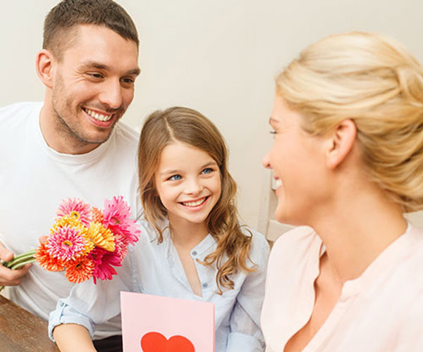
M264 156L263 165L273 170L280 222L309 225L316 205L327 199L324 146L325 140L312 136L301 127L302 115L288 107L276 94L269 124L274 144ZM326 143L327 144L327 143Z

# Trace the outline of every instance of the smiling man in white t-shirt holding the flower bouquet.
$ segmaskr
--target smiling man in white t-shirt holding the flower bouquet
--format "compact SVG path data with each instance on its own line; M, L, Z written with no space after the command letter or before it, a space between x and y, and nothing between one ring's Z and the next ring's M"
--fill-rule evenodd
M47 15L36 60L44 103L0 108L1 260L34 249L63 198L102 208L122 195L134 215L140 211L137 134L118 122L140 73L138 44L133 20L111 0L63 0ZM0 285L18 285L11 299L48 320L72 287L62 274L0 266ZM120 331L116 317L94 339Z

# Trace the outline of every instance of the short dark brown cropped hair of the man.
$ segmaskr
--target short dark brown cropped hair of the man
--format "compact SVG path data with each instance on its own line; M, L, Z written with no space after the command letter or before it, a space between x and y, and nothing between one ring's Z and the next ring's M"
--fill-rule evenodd
M77 25L107 27L121 37L140 44L137 28L122 6L112 0L63 0L51 9L44 20L42 47L59 60L63 51L73 44Z

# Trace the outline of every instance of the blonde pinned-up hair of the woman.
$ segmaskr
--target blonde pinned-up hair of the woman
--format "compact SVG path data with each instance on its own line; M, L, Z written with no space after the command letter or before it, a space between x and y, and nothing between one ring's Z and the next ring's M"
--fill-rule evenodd
M308 46L276 77L276 92L312 134L351 119L369 177L404 211L423 204L423 70L380 34L335 34Z

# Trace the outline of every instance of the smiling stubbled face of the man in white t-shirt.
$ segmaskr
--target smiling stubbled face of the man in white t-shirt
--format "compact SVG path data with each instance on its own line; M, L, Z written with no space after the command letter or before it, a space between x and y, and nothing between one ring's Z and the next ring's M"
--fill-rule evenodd
M106 142L134 96L137 44L109 28L79 25L75 44L54 65L51 106L56 139L68 153Z

